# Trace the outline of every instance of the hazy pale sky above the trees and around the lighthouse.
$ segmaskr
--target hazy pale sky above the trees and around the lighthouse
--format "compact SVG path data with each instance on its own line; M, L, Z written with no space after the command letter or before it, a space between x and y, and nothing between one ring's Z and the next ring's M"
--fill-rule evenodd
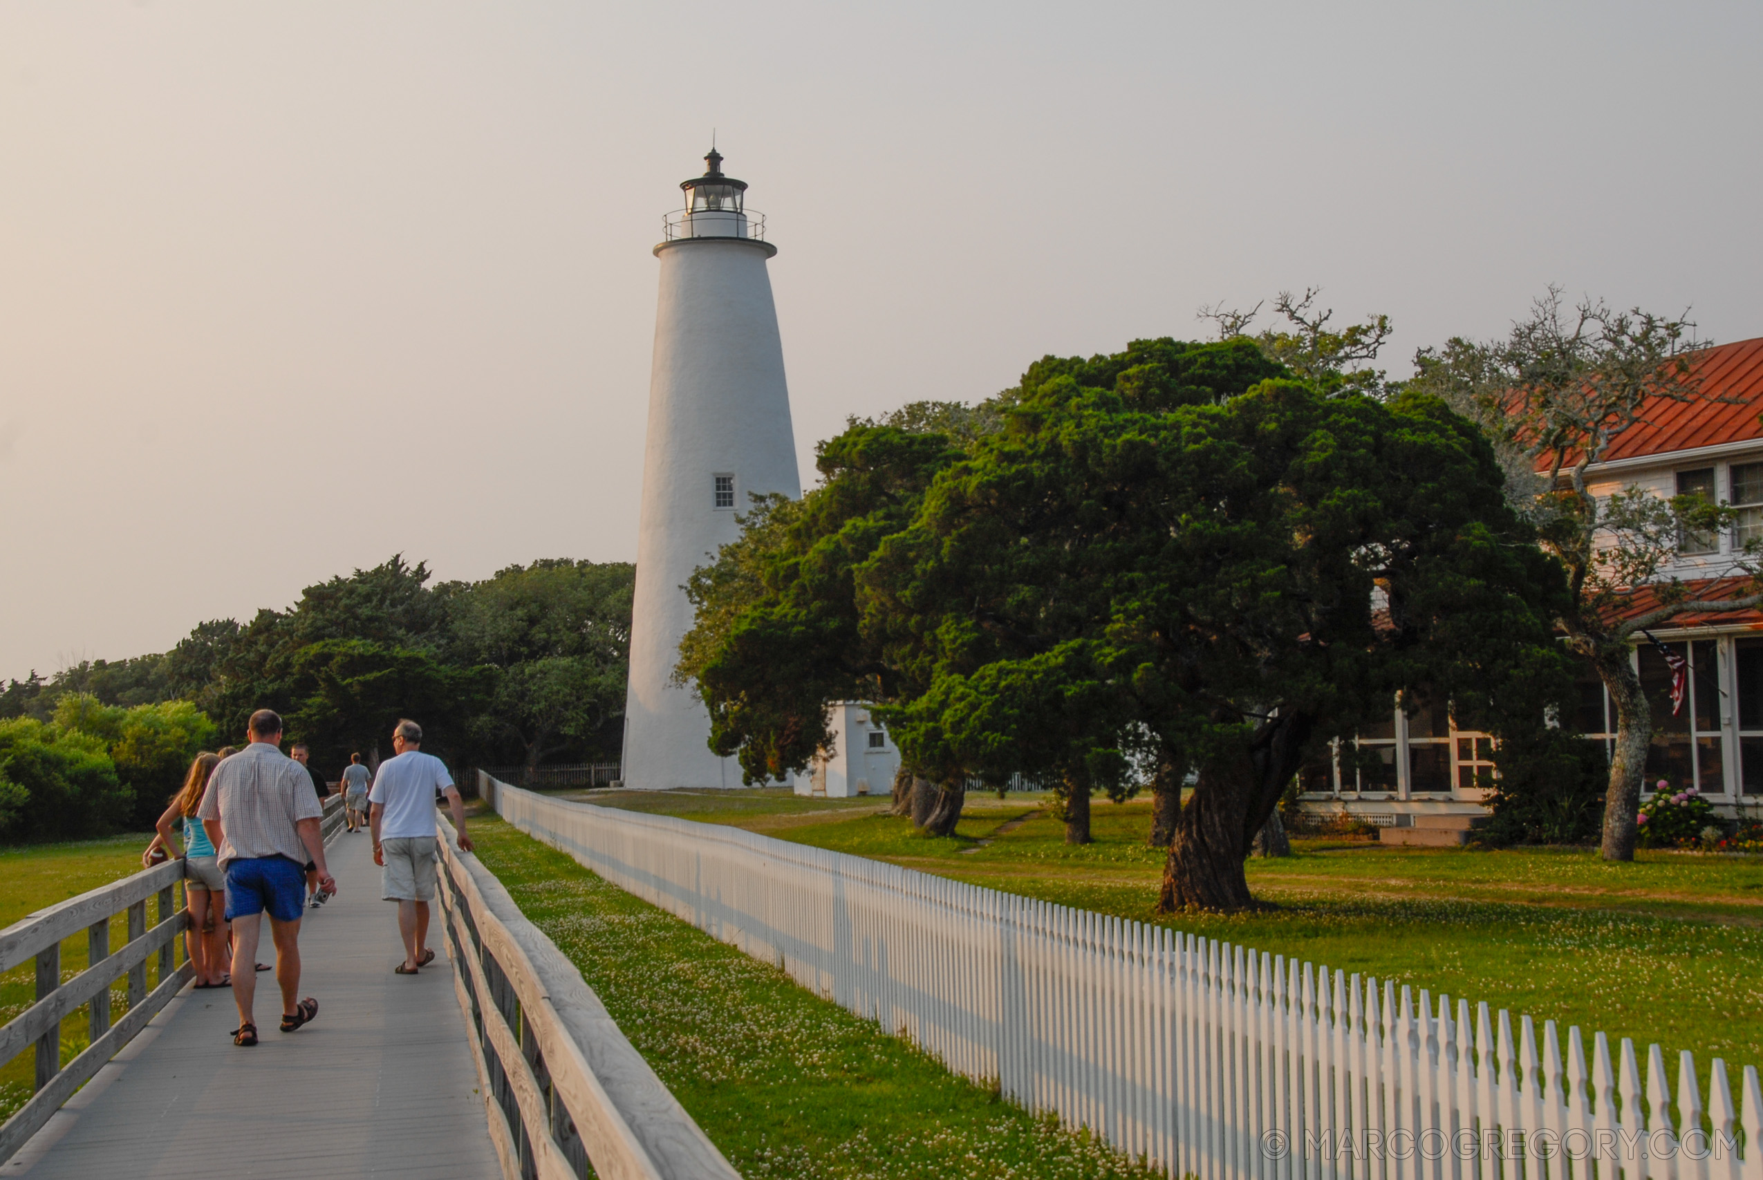
M393 552L629 561L716 129L848 414L1322 286L1763 335L1758 4L0 0L0 676Z

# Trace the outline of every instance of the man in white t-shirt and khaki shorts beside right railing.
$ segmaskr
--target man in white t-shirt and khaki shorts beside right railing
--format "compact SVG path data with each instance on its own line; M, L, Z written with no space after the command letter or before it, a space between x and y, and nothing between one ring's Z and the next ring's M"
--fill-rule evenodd
M435 896L435 792L446 792L453 811L453 829L458 847L471 852L465 834L465 804L460 803L453 776L441 758L423 753L423 728L416 721L398 721L391 730L395 758L379 764L374 788L368 792L368 824L374 829L374 864L381 875L379 894L398 903L398 935L404 938L404 961L393 970L414 975L420 967L434 961L428 949L428 900Z

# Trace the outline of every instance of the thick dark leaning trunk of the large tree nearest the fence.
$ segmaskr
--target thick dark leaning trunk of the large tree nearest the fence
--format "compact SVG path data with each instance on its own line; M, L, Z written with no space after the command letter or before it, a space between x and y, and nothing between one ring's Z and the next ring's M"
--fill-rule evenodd
M1268 718L1239 757L1201 767L1169 843L1158 912L1234 912L1255 905L1243 859L1298 773L1310 725L1298 713Z

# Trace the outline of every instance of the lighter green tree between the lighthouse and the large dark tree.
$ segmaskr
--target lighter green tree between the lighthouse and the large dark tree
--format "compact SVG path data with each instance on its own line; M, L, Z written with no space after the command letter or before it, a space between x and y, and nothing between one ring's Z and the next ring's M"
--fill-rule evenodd
M853 422L822 444L822 487L799 503L756 504L742 538L688 586L698 614L675 679L703 697L712 748L739 755L749 781L800 771L829 741L830 700L873 700L885 718L885 706L931 686L933 647L910 619L860 589L859 577L880 543L911 522L938 473L1007 429L1024 392L1067 379L1128 399L1213 404L1276 372L1252 342L1135 340L1111 356L1045 356L980 406L913 402L880 422ZM952 831L966 774L911 739L901 751L901 785L917 783L922 827ZM904 806L901 785L896 803Z

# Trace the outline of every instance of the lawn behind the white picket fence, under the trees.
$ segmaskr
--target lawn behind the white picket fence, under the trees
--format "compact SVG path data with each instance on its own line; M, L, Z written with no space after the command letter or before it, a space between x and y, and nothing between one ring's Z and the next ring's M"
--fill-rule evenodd
M730 792L585 795L643 811L737 824L822 848L904 864L1061 905L1162 922L1486 1000L1587 1035L1657 1041L1670 1055L1763 1067L1763 857L1641 852L1402 848L1296 840L1296 855L1250 861L1266 910L1236 917L1157 915L1162 852L1144 847L1149 803L1093 804L1095 843L1072 848L1044 795L968 795L956 834L926 838L882 801ZM815 808L823 808L818 815ZM689 810L688 810L689 808ZM772 810L776 808L776 810ZM1007 827L1007 831L1000 831Z

